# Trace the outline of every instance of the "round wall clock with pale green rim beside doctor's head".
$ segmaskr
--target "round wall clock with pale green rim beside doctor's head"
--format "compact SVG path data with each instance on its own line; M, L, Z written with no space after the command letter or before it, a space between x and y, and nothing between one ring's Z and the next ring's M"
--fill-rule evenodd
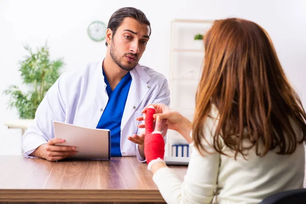
M107 26L104 22L95 20L89 24L87 34L93 41L99 42L105 39Z

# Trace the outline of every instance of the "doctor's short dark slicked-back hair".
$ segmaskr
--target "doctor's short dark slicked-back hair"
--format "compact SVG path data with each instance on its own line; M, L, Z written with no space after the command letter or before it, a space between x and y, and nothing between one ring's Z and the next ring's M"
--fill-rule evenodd
M150 24L150 21L145 16L145 14L141 10L136 9L134 7L124 7L124 8L121 8L115 11L115 13L113 13L113 15L110 17L107 28L113 31L113 36L115 35L123 19L126 17L134 18L141 24L148 25L150 28L149 35L151 35L151 24ZM105 45L107 46L107 42L105 42Z

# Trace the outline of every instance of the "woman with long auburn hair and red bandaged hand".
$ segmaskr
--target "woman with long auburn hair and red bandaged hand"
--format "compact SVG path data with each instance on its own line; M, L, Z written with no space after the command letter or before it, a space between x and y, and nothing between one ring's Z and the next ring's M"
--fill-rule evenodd
M152 133L153 113L143 110L145 157L164 199L258 203L273 193L302 188L306 115L268 34L254 22L229 18L216 20L203 41L193 123L154 104ZM194 148L183 182L163 161L161 119Z

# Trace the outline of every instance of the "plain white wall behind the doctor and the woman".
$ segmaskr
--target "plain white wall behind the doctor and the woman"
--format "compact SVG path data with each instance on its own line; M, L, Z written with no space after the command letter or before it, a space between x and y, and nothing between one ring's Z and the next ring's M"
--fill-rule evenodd
M141 63L169 76L170 21L174 18L218 19L241 17L262 25L270 34L279 59L306 103L306 2L188 0L188 1L41 1L0 0L0 92L10 84L20 85L19 60L22 44L41 46L48 41L52 58L64 57L63 71L88 61L103 59L104 42L93 42L86 30L93 20L108 22L118 8L141 9L151 22L152 34ZM22 86L23 87L23 86ZM23 87L24 88L24 87ZM304 93L304 94L303 94ZM20 154L20 130L4 122L17 119L7 110L8 97L0 94L0 155Z

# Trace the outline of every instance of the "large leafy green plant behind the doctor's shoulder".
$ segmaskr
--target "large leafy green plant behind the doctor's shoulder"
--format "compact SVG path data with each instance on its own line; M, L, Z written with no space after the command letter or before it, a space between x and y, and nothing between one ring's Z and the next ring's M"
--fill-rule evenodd
M20 119L33 119L36 109L48 89L60 76L63 58L50 60L47 43L33 52L29 45L24 45L29 55L19 62L23 84L30 85L32 90L23 93L16 85L4 90L10 96L8 108L16 108Z

